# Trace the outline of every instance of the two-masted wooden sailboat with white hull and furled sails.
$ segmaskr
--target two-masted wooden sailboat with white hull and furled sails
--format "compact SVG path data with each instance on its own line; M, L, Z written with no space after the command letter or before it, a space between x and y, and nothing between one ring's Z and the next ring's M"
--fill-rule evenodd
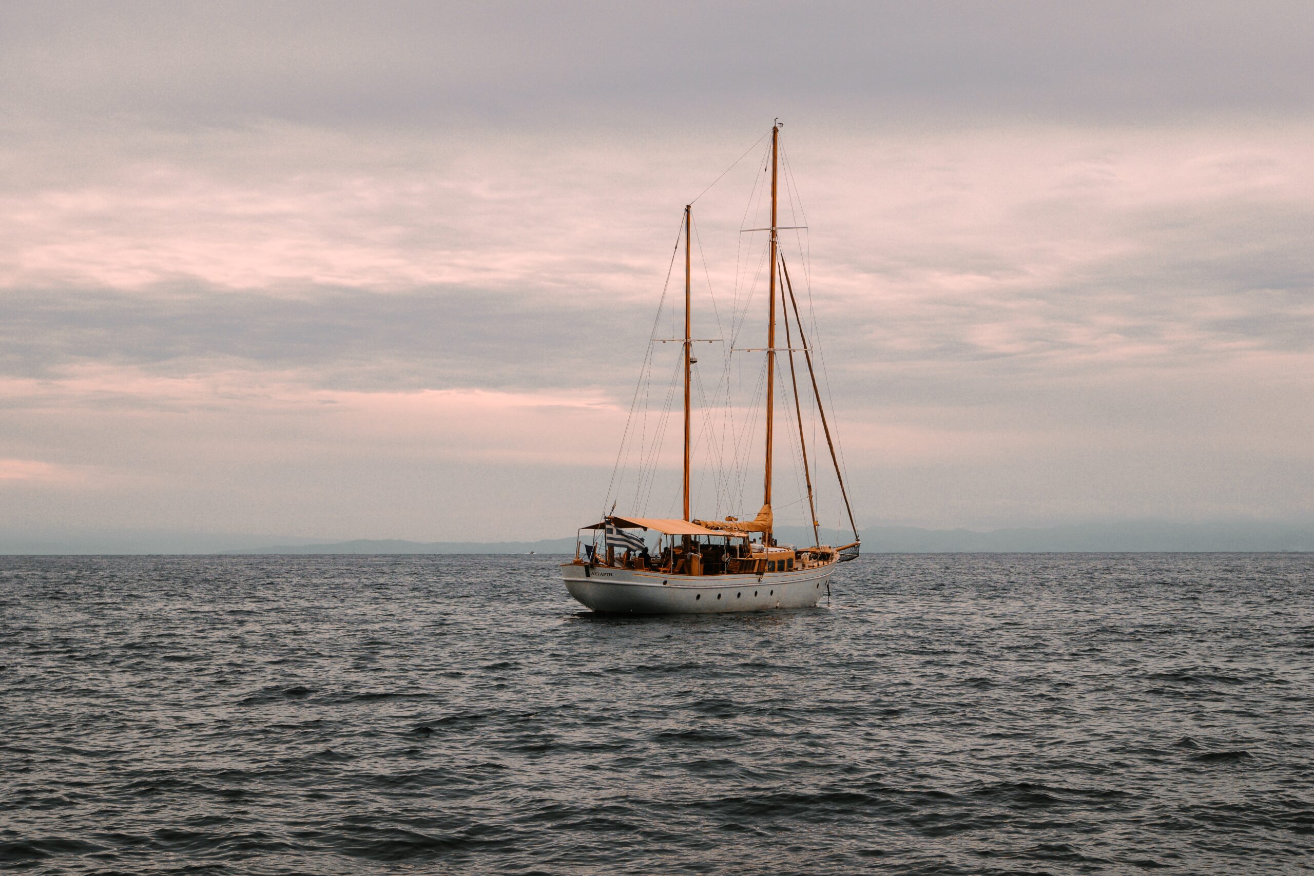
M781 123L771 126L770 173L771 219L766 229L769 238L769 313L766 347L766 448L763 469L762 507L752 520L728 516L723 520L703 520L691 516L690 510L690 376L696 362L691 336L691 282L690 282L690 226L692 205L685 206L685 458L683 458L683 516L646 517L611 512L598 523L581 527L576 540L576 556L561 565L566 590L583 605L595 612L636 615L682 615L752 612L783 608L815 607L830 590L830 575L840 562L858 557L861 537L853 521L842 466L836 454L830 423L821 405L813 370L812 348L804 336L799 305L794 296L788 268L781 252L778 232L778 175ZM761 142L761 141L759 141ZM695 198L696 200L696 198ZM799 227L799 226L791 226ZM784 347L777 347L777 298L781 303L781 322L784 326ZM786 306L788 305L788 306ZM796 335L796 339L795 339ZM792 347L794 341L799 347ZM811 377L816 410L820 414L830 461L834 464L840 494L853 541L830 546L820 544L816 499L812 474L808 468L807 441L803 428L803 410L799 405L799 386L794 372L795 352L802 352ZM784 353L790 365L794 408L798 414L799 447L803 450L803 470L807 500L811 512L813 538L811 546L781 544L774 535L771 508L771 465L775 431L775 372L777 356ZM586 535L587 533L587 535ZM656 535L657 544L649 548L646 537ZM598 542L602 536L602 542Z

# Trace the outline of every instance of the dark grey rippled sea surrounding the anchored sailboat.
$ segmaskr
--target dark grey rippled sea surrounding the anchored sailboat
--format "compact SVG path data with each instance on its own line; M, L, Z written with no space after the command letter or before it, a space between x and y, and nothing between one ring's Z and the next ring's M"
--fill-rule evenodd
M1314 872L1314 556L0 557L0 868Z

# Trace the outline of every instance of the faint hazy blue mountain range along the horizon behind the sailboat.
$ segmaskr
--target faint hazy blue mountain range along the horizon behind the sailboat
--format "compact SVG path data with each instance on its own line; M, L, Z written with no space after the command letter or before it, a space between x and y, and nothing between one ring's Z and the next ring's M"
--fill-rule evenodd
M805 527L781 527L781 541L812 544ZM823 531L824 542L838 545L851 533ZM574 538L541 541L401 541L355 540L330 544L276 545L227 554L453 554L453 553L574 553ZM1135 552L1286 552L1314 550L1314 528L1263 523L1171 524L1108 523L1049 528L920 529L867 527L863 553L1135 553Z

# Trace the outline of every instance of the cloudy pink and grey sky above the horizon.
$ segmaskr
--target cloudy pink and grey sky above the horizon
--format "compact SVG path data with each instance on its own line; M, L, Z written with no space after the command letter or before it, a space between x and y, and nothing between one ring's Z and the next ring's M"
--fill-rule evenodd
M720 338L777 118L859 524L1314 520L1311 39L1306 3L4 4L0 531L595 520L683 206Z

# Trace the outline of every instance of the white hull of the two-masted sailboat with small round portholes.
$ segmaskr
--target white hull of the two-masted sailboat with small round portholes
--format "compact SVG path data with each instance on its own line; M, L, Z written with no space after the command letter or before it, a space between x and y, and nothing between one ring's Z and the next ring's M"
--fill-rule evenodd
M671 575L608 566L561 563L570 595L595 612L715 615L773 608L812 608L828 594L834 563L746 575Z

